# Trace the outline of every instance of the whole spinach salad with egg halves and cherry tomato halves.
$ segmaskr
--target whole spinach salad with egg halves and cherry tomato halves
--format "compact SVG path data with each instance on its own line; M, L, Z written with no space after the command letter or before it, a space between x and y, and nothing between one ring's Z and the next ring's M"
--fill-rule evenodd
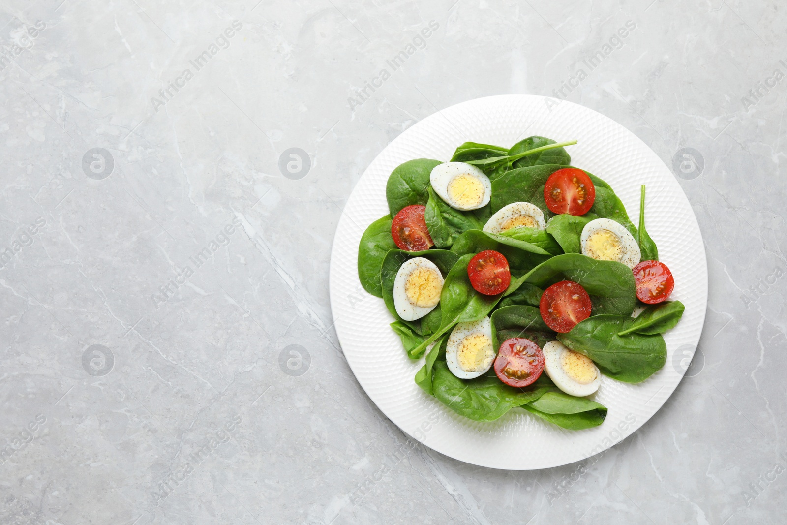
M601 376L640 383L667 360L684 305L645 231L565 146L465 142L449 162L407 161L390 213L360 239L358 275L395 318L416 383L471 420L516 407L559 427L604 422ZM635 315L636 314L636 315Z

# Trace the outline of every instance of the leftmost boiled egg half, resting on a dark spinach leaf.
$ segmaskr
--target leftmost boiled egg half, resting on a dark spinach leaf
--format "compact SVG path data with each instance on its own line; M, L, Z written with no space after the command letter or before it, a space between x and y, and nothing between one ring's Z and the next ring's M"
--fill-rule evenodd
M405 321L414 321L434 310L440 302L443 276L425 257L405 261L393 279L393 306Z

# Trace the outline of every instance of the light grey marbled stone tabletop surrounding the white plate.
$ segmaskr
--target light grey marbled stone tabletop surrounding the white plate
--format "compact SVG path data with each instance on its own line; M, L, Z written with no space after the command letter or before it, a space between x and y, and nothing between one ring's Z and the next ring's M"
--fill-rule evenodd
M0 523L781 523L780 7L4 2ZM334 228L424 116L553 95L580 69L558 94L634 131L693 205L703 359L600 456L475 468L408 442L354 379L328 306ZM290 148L300 172L290 152L279 169Z

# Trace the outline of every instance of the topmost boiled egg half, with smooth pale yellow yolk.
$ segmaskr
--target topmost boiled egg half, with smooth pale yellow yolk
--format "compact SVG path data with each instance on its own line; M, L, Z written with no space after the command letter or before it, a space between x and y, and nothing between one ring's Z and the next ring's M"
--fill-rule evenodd
M446 162L432 168L429 182L453 209L482 208L492 197L492 183L484 172L464 162Z

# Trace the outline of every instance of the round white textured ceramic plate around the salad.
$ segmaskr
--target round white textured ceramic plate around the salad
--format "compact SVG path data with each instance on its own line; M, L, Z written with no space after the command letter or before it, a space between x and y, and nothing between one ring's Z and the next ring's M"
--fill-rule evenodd
M331 310L345 357L371 400L401 430L446 456L490 468L556 467L600 453L634 433L682 379L700 339L708 301L708 268L696 217L670 169L645 142L592 109L553 105L532 95L478 98L453 105L399 135L361 176L339 220L331 253ZM568 146L571 164L607 181L637 223L640 185L647 184L648 233L671 269L671 296L685 304L681 322L667 332L667 364L644 383L604 377L595 400L608 407L600 427L567 431L522 409L481 423L464 418L421 390L413 377L423 358L410 360L388 326L382 299L360 287L358 242L372 221L388 213L386 181L402 162L449 161L462 142L509 147L530 135ZM527 444L527 446L524 446Z

